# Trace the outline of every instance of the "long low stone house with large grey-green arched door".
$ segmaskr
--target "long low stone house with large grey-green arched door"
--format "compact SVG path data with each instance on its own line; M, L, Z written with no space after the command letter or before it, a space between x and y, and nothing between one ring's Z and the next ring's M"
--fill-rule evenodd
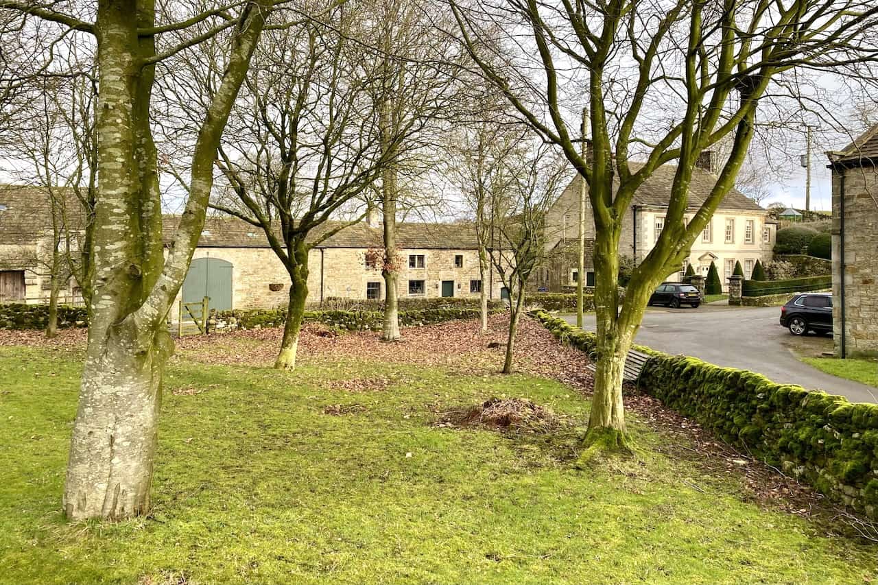
M323 229L336 224L327 222ZM165 220L170 242L176 218ZM316 238L320 232L314 231ZM309 303L343 297L382 300L385 283L380 264L368 262L370 250L383 246L382 229L356 223L315 246L308 256ZM463 297L478 299L479 245L469 224L398 224L399 299ZM491 269L489 298L506 295ZM185 302L211 297L218 310L286 306L290 278L262 229L227 216L212 216L192 256L181 297ZM178 298L179 300L179 298Z

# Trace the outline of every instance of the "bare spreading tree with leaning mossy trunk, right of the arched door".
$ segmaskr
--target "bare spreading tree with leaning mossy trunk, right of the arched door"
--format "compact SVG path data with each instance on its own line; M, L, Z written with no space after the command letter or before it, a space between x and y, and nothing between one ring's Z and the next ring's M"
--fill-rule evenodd
M322 17L332 27L314 20L292 34L267 33L231 122L234 140L219 148L238 201L212 205L261 227L290 275L281 369L296 364L310 250L363 219L327 224L368 197L405 138L379 127L363 47L350 40L363 14L342 4Z

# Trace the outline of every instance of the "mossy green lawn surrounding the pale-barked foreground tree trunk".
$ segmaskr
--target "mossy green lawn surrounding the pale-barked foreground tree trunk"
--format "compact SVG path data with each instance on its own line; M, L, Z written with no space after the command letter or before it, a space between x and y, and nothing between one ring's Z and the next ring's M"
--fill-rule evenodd
M317 362L297 372L176 359L152 516L66 524L60 495L80 366L0 348L0 583L863 583L875 551L742 498L741 479L659 454L574 465L553 436L436 428L436 411L528 396L572 421L557 382ZM327 381L395 380L385 391ZM180 388L200 394L175 395ZM324 415L358 403L354 415ZM411 457L407 457L411 453Z

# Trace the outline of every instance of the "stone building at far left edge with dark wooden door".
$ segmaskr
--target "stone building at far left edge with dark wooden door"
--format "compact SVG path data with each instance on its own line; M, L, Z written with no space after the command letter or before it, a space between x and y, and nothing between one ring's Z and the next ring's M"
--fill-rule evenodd
M68 206L70 213L64 214L65 219L81 221L77 206ZM73 245L75 253L76 242ZM53 246L52 205L47 191L0 185L0 302L48 302ZM61 249L66 249L63 243ZM61 278L66 284L61 287L59 302L82 302L79 287L67 270Z

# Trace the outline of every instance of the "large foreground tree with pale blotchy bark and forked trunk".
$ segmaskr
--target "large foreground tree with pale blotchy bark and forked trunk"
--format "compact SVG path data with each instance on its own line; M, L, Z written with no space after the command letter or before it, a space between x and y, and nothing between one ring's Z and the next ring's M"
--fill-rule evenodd
M204 225L220 136L275 4L176 2L156 9L145 0L0 2L19 18L54 23L61 36L97 47L94 277L64 488L68 518L122 518L149 509L162 372L173 347L165 319ZM224 73L198 125L189 195L166 260L150 124L155 76L163 72L156 65L218 34L228 43Z

